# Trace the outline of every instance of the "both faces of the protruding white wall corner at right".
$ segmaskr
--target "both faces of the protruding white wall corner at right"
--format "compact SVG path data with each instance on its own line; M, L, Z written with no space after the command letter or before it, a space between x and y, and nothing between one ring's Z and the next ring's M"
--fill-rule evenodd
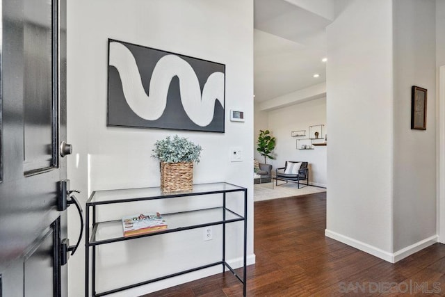
M437 239L435 4L356 0L327 28L326 234L390 262ZM426 131L411 86L428 89Z

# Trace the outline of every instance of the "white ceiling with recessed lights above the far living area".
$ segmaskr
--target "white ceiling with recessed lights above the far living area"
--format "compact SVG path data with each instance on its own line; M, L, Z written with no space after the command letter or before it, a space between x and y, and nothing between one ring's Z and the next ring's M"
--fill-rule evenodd
M326 26L348 0L254 0L254 100L326 81ZM320 77L314 78L314 74Z

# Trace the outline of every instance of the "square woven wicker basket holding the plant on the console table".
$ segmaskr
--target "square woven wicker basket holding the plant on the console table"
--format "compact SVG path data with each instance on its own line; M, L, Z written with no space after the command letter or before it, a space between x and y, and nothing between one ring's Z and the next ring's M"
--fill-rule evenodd
M192 188L193 162L161 162L161 191L191 191Z

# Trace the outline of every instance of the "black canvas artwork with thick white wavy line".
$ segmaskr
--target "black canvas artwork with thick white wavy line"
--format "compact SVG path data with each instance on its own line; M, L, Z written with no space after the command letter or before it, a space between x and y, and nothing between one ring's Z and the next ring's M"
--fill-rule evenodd
M224 132L225 65L108 40L108 126Z

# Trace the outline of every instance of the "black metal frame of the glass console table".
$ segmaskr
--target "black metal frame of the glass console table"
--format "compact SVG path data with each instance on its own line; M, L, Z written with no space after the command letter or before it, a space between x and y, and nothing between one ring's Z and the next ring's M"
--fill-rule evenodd
M218 183L218 184L229 184L229 183ZM234 184L229 184L232 186L236 186ZM204 268L209 268L212 266L217 266L217 265L222 265L223 266L223 273L225 273L225 268L227 267L229 269L229 271L231 271L234 276L243 284L243 296L246 296L247 293L247 273L246 273L246 264L247 264L247 218L248 218L248 204L247 204L247 200L248 200L248 191L247 188L243 188L241 186L236 186L238 187L237 189L231 189L231 190L218 190L218 191L205 191L205 192L198 192L198 193L170 193L168 195L161 195L161 196L153 196L153 197L145 197L145 198L129 198L129 199L121 199L121 200L111 200L111 201L102 201L102 202L91 202L93 196L95 195L96 191L93 191L90 195L90 198L88 198L87 202L86 202L86 234L85 234L85 296L88 296L89 294L89 288L90 288L90 248L92 249L92 271L91 271L91 276L92 276L92 280L91 280L91 284L92 284L92 296L106 296L108 294L113 294L119 291L124 291L127 289L131 289L134 287L139 287L142 286L144 284L150 284L152 282L158 282L159 280L165 280L167 278L172 278L178 275L183 275L185 273L191 273L193 271L198 271ZM226 207L226 193L232 193L232 192L239 192L239 191L243 191L244 192L244 216L240 216L239 214L236 214L236 212L228 209ZM116 203L124 203L124 202L135 202L135 201L142 201L142 200L156 200L156 199L168 199L168 198L177 198L177 197L188 197L188 196L197 196L197 195L211 195L211 194L218 194L218 193L222 193L223 194L223 220L218 220L216 222L211 222L211 223L203 223L200 225L191 225L191 226L186 226L186 227L179 227L179 228L175 228L175 229L166 229L166 230L161 230L159 232L154 232L154 233L149 233L149 234L142 234L142 235L138 235L138 236L131 236L131 237L118 237L118 238L113 238L113 239L105 239L105 240L101 240L101 241L96 241L95 240L95 234L97 231L97 226L99 223L105 223L105 222L97 222L96 221L96 206L97 205L101 205L101 204L116 204ZM91 237L90 237L90 207L92 207L92 232L91 232ZM197 209L197 210L204 210L204 209ZM197 211L194 210L194 211ZM229 211L230 213L234 214L235 216L237 216L238 218L235 219L230 219L230 220L226 220L225 218L225 211ZM192 212L192 211L184 211L184 212ZM226 261L225 261L225 225L227 223L234 223L234 222L238 222L238 221L243 221L244 225L243 225L243 240L244 240L244 244L243 244L243 278L240 277L240 275L238 275L235 271L234 268L232 268L232 266L230 266ZM113 242L118 242L118 241L127 241L127 240L132 240L132 239L138 239L141 237L147 237L147 236L156 236L156 235L160 235L160 234L166 234L166 233L172 233L172 232L181 232L181 231L185 231L185 230L191 230L191 229L197 229L197 228L201 228L201 227L207 227L207 226L213 226L213 225L223 225L223 257L221 261L218 262L213 262L204 266L199 266L199 267L195 267L195 268L191 268L185 271L179 271L177 273L172 273L170 275L165 275L162 276L160 278L154 278L152 280L146 280L144 282L138 282L136 284L130 284L124 287L119 287L116 289L111 289L108 291L104 291L101 293L96 293L95 291L95 278L96 278L96 246L99 246L101 244L106 244L106 243L113 243Z

